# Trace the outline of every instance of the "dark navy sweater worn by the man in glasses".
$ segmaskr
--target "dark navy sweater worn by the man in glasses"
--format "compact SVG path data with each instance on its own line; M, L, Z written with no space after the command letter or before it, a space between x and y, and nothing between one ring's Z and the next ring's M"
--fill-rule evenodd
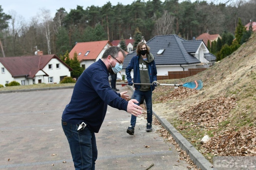
M84 122L95 133L99 132L107 112L107 105L126 111L128 101L120 98L109 85L109 72L101 59L91 64L77 80L70 103L62 120L72 124Z

